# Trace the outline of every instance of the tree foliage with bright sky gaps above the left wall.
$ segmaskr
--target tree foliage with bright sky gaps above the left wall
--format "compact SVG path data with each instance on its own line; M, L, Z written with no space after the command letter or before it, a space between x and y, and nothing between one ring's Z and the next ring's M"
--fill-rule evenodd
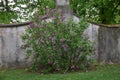
M45 8L54 8L54 0L0 0L0 23L24 22Z

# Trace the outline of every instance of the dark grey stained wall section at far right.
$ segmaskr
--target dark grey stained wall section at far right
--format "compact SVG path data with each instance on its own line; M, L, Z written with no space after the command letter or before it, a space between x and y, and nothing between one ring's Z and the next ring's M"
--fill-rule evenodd
M101 27L98 42L100 63L120 63L120 28Z

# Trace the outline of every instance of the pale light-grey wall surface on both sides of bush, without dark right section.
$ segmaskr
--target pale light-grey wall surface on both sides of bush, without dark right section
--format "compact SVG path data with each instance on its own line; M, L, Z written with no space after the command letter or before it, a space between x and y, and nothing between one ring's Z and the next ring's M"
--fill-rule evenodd
M27 27L27 26L26 26ZM98 26L90 24L85 30L84 36L95 42L97 51ZM21 48L23 45L20 35L25 32L25 26L14 28L0 28L0 67L12 68L27 67L31 59L26 59L26 53ZM95 54L97 58L97 53Z

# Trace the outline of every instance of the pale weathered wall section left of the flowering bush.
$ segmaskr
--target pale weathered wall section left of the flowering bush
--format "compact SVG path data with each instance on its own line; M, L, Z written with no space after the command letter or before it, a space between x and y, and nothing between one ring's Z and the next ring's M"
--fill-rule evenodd
M20 35L25 26L18 28L0 28L0 67L25 67L29 60L25 57L25 51L21 48Z

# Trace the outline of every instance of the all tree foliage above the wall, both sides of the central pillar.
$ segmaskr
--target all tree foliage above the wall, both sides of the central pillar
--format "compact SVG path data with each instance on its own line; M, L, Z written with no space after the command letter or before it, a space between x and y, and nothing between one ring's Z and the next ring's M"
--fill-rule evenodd
M103 24L120 23L120 0L70 0L75 14ZM0 0L0 23L24 22L46 8L54 8L55 0Z

